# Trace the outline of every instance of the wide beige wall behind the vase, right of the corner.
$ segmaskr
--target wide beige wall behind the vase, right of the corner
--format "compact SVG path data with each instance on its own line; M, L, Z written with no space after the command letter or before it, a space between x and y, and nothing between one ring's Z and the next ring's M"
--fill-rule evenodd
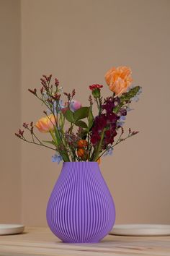
M65 90L76 88L84 105L88 85L104 83L113 65L130 66L134 84L143 86L125 126L140 134L101 164L117 223L170 223L169 8L166 0L22 0L22 121L42 116L40 103L27 92L40 85L42 74L57 76ZM46 204L61 171L50 162L52 153L22 143L27 225L46 225Z

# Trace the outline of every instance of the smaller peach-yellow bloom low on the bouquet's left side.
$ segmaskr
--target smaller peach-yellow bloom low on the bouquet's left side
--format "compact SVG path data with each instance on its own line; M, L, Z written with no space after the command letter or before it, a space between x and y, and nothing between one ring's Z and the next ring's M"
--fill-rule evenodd
M39 130L39 132L50 132L53 131L55 126L55 118L53 114L50 116L42 117L37 123L35 127Z

